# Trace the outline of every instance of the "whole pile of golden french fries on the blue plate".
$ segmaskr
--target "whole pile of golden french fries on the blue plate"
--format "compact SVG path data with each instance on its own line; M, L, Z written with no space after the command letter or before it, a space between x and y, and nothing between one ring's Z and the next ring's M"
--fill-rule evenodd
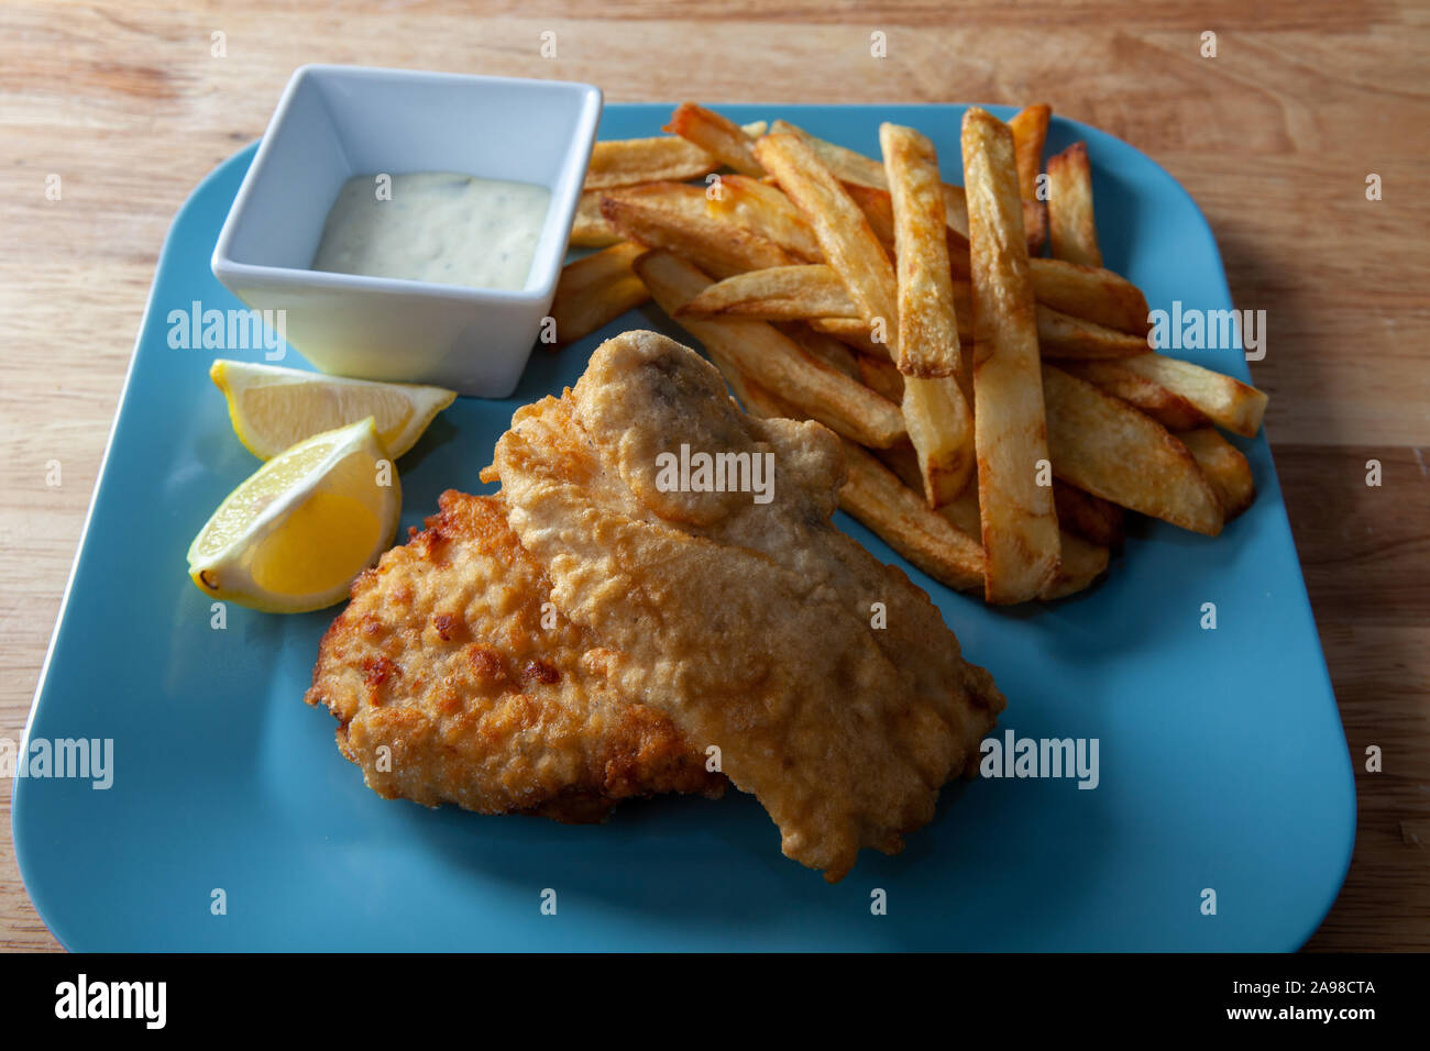
M1214 536L1256 496L1217 428L1254 436L1266 395L1148 349L1085 144L1037 192L1050 114L970 109L951 186L912 127L875 160L684 103L668 136L596 144L572 245L601 250L563 270L556 337L654 299L746 412L844 439L848 513L988 602L1087 588L1124 509Z

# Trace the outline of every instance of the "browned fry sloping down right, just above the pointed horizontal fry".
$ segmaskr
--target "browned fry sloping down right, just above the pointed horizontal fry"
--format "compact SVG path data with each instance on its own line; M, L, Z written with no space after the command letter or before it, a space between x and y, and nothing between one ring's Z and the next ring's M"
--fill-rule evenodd
M699 186L656 182L606 190L601 214L626 240L668 249L716 277L795 262L778 245L709 214Z

